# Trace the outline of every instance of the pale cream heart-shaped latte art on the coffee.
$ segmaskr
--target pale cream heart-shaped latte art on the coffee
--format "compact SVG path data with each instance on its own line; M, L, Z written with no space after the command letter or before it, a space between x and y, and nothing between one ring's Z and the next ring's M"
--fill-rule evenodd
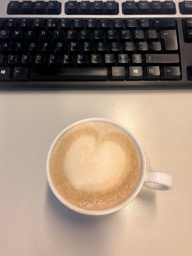
M123 177L126 155L117 142L83 135L71 144L63 162L75 189L107 191Z

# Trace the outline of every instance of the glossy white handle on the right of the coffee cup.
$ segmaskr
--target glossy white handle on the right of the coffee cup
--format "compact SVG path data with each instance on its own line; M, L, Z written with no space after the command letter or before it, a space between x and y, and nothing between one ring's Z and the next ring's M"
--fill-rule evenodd
M173 186L173 177L167 173L146 171L143 186L149 189L169 190Z

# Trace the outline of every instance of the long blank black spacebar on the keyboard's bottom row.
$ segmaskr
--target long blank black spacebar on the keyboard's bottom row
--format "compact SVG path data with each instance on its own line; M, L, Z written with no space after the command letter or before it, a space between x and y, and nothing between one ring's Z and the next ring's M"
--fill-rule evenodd
M31 81L107 81L107 67L32 68Z

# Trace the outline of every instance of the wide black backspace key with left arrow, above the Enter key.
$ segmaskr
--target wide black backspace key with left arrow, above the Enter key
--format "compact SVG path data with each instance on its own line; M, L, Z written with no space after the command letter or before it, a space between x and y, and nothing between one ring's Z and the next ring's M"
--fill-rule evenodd
M176 29L176 22L174 18L154 18L151 21L153 29Z

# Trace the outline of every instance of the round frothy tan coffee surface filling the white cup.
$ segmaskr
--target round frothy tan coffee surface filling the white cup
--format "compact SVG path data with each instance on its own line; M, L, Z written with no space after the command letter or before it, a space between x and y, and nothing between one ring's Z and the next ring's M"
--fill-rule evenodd
M141 156L123 129L88 121L60 137L51 154L50 173L60 195L71 204L107 209L133 193L141 176Z

